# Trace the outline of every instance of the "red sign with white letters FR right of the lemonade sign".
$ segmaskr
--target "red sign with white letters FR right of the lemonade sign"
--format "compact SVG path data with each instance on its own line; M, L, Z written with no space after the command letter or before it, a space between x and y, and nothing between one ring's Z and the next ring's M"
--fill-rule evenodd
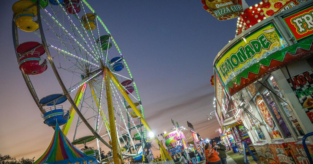
M313 6L304 10L296 12L284 19L289 31L298 41L313 34L313 28L307 24L312 24L313 19Z

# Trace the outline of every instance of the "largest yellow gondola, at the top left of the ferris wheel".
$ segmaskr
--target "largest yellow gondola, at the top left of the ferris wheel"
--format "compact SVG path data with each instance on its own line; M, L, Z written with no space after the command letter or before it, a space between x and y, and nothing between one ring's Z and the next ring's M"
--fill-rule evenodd
M37 16L37 6L34 2L20 0L12 6L15 25L23 31L33 32L39 28L33 17Z

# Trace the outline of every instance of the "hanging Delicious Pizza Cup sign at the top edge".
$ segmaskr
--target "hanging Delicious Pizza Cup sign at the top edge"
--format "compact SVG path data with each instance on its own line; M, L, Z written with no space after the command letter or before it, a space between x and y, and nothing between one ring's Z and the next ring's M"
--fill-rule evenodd
M238 17L243 11L241 0L201 0L201 2L203 8L220 21Z

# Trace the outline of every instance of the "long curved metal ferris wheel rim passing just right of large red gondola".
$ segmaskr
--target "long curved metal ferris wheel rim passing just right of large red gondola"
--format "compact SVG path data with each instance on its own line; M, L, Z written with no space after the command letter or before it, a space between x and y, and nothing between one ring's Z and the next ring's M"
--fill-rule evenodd
M55 77L57 78L64 95L66 96L66 98L69 100L69 102L71 103L72 107L74 107L74 110L76 111L76 113L78 114L78 116L81 118L81 120L85 123L85 125L90 129L90 131L94 134L94 136L96 138L98 138L102 143L105 144L105 146L112 148L110 146L110 144L108 144L107 142L105 142L105 140L103 138L100 137L100 135L90 126L90 124L87 122L87 120L85 119L85 117L83 116L83 114L80 112L80 110L78 109L78 107L76 106L75 102L73 101L72 97L69 95L69 92L67 91L58 70L56 69L55 65L54 65L54 61L53 58L49 52L49 48L47 45L47 41L46 38L44 37L44 29L42 27L42 22L41 22L41 16L40 16L40 1L37 0L37 14L38 14L38 25L39 25L39 31L40 31L40 36L41 36L41 41L44 45L44 49L46 50L47 56L48 56L48 60L50 62L51 68L55 74Z

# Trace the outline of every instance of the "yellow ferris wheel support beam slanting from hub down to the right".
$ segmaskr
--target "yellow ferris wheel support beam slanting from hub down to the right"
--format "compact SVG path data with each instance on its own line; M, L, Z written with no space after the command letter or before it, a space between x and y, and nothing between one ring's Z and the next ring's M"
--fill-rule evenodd
M127 95L127 93L125 92L125 90L123 89L123 86L118 82L118 80L116 79L116 77L114 76L114 74L112 72L110 72L109 68L105 67L105 73L108 74L111 78L111 80L114 82L114 84L116 85L116 87L120 90L120 92L122 93L122 95L125 97L126 101L129 103L129 105L131 106L131 108L134 110L134 112L136 113L136 115L139 117L139 119L141 120L142 124L146 127L146 129L149 132L152 132L152 129L150 127L150 125L148 124L148 122L146 121L146 119L142 116L142 114L140 113L140 111L137 109L136 105L134 104L134 102L132 102L131 98ZM163 144L160 142L160 140L156 137L156 135L154 135L154 140L156 141L156 143L160 146L160 150L161 153L163 152L165 155L165 159L168 159L170 161L172 161L172 157L171 155L167 152L167 150L165 149L165 147L163 146Z

